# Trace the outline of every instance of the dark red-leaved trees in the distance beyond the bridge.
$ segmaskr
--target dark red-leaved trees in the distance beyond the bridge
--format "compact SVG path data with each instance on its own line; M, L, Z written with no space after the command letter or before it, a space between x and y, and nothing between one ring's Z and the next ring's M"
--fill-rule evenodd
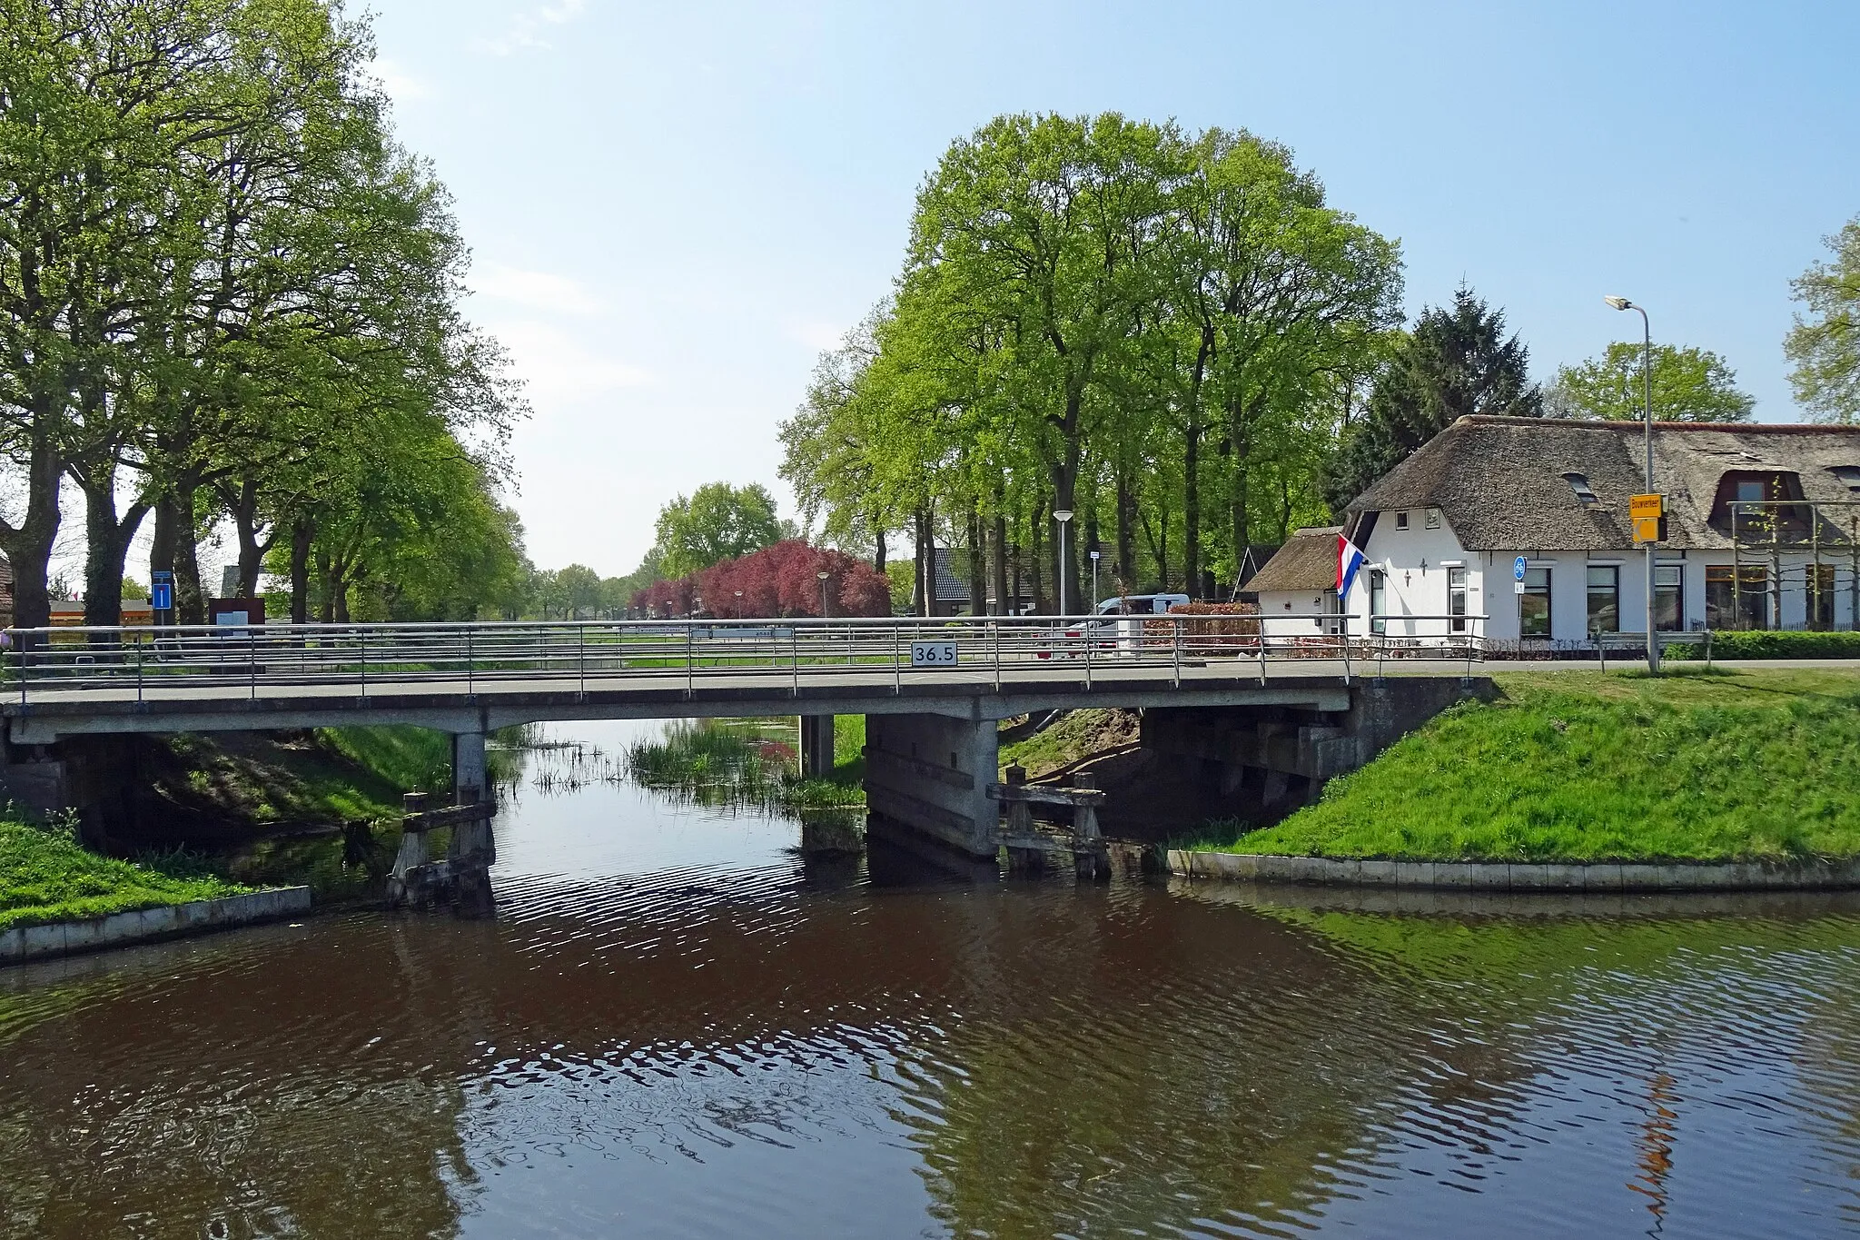
M843 550L787 539L709 569L658 582L632 597L649 615L705 615L761 619L820 615L820 573L826 573L830 615L891 615L891 582Z

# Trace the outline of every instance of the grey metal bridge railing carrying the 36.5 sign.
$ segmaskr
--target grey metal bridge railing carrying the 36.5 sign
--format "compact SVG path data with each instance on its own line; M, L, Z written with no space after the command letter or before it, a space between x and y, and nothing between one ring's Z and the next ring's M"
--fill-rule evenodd
M1397 617L1388 617L1393 623ZM686 695L727 682L776 682L798 693L809 679L876 679L902 692L911 679L1042 673L1092 686L1131 669L1341 660L1343 675L1389 658L1484 656L1484 617L1402 615L1404 632L1341 632L1337 615L958 615L936 619L549 621L471 625L169 625L6 630L6 693L113 690L149 697L389 686L452 686L465 693L573 684L578 692L679 686ZM1363 621L1358 617L1356 627Z

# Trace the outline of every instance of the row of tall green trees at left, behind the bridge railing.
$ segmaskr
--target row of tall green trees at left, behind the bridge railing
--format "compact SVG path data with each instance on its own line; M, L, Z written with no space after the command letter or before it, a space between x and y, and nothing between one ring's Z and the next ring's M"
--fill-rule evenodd
M294 619L467 615L521 593L498 498L521 396L461 316L445 188L396 145L365 24L329 0L0 0L0 513L46 619L63 487L86 619L125 558L199 621L225 522L240 591Z

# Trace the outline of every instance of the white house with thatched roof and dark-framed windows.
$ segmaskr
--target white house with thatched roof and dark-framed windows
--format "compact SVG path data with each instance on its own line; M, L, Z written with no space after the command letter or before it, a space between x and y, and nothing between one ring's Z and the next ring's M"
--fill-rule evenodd
M1345 600L1352 632L1646 632L1628 515L1644 470L1641 422L1460 418L1350 504L1343 532L1367 556ZM1661 422L1654 489L1659 628L1854 628L1860 428Z

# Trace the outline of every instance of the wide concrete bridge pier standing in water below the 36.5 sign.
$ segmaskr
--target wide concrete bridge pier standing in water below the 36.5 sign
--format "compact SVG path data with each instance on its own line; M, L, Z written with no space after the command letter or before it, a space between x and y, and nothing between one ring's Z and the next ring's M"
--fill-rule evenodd
M971 857L993 861L1001 809L993 719L941 714L865 716L865 803L874 814Z

